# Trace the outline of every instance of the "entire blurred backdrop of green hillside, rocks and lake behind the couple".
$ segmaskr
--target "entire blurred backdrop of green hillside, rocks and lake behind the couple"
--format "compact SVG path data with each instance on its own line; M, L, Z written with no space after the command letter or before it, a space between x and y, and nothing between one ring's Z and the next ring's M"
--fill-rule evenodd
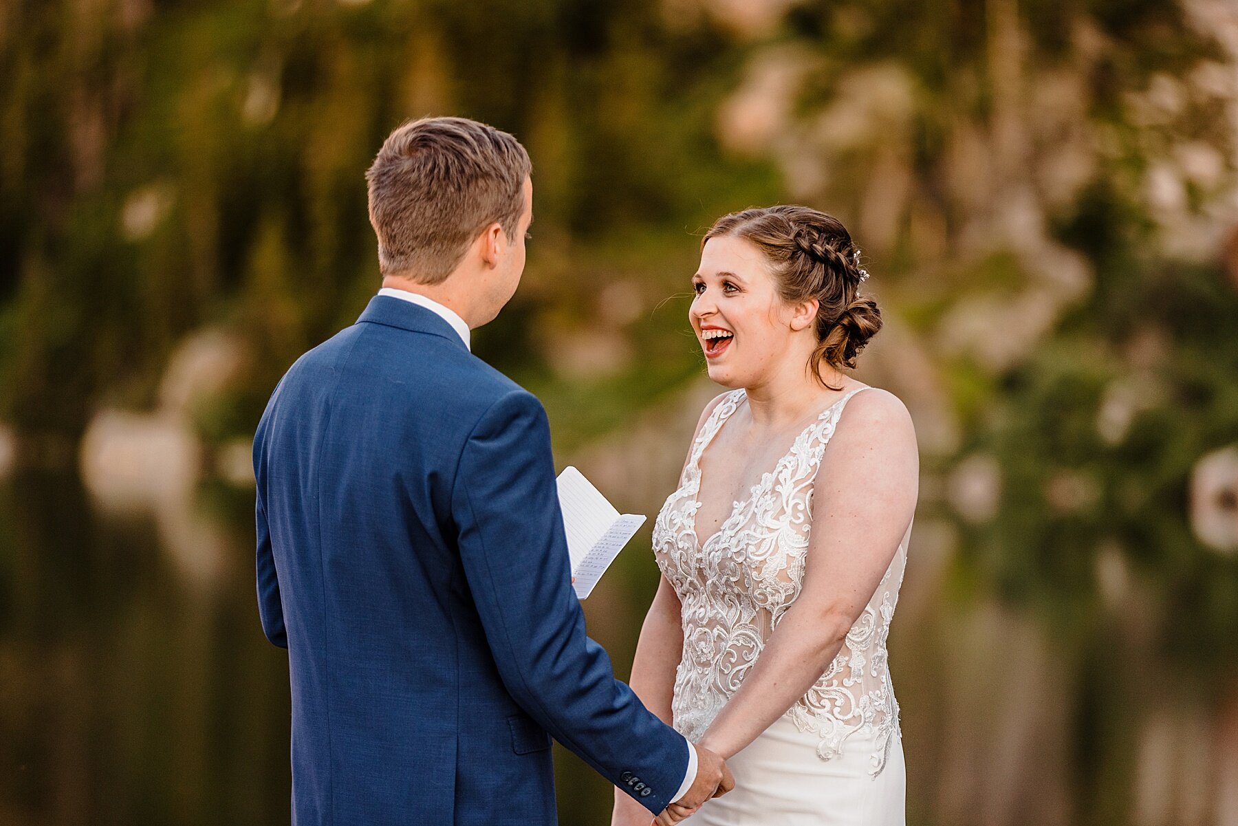
M0 0L0 822L287 821L250 437L376 290L363 172L423 114L529 147L475 350L624 510L714 391L699 234L852 229L922 451L909 822L1238 825L1226 0ZM586 606L620 674L656 577L646 531Z

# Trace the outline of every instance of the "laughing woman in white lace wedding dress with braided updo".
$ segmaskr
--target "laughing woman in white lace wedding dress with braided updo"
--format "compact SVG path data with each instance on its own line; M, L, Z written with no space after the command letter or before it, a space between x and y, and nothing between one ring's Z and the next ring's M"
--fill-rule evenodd
M885 639L919 458L903 402L843 373L881 327L859 256L797 206L725 215L702 243L690 321L730 390L655 523L662 580L631 687L725 758L735 789L660 820L904 824ZM635 824L647 811L617 795L613 825Z

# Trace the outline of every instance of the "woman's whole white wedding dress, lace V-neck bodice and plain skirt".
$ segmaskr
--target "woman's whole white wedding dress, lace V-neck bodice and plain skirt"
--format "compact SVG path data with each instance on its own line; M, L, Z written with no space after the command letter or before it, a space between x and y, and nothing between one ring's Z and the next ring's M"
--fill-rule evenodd
M704 544L696 533L701 454L745 400L723 398L701 427L680 488L654 525L654 554L683 603L683 656L675 677L675 728L697 741L739 689L800 593L812 489L826 443L852 390L808 425L773 472ZM885 639L906 563L904 535L885 576L829 669L728 763L730 794L692 826L903 826L905 768Z

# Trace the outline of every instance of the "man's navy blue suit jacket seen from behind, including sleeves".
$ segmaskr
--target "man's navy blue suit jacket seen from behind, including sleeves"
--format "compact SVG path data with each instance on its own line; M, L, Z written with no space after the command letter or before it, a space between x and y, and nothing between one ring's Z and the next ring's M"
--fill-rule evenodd
M545 411L446 321L371 300L280 381L254 464L293 824L553 824L550 736L670 802L687 744L586 637Z

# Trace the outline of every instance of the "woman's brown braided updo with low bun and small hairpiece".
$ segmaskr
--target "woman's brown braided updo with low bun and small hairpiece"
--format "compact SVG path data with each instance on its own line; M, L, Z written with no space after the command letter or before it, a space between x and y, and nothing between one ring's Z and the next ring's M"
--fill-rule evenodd
M800 206L744 209L719 218L701 246L727 235L743 238L765 254L784 301L817 300L817 348L808 359L812 374L825 384L822 363L854 369L855 355L881 329L881 311L859 292L868 271L842 222Z

